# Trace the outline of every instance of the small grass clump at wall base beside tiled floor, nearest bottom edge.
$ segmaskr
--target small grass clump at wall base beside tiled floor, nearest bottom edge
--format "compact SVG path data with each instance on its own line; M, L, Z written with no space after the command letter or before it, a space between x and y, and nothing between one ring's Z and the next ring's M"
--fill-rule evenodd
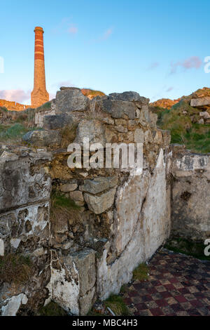
M127 305L124 303L123 298L116 295L111 295L106 301L104 301L104 305L115 313L116 316L129 316L130 311L127 308Z

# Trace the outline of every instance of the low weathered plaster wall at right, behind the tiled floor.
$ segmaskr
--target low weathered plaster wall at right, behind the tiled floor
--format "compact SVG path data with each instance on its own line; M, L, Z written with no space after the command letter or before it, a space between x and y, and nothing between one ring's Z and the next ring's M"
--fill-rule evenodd
M172 236L202 241L210 237L210 154L173 146Z

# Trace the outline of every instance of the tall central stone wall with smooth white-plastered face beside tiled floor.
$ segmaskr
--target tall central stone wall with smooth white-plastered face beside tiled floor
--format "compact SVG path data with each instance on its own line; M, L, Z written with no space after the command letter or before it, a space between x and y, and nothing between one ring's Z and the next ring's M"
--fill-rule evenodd
M71 142L82 148L84 138L104 148L106 143L144 144L141 176L113 168L69 169L69 153L52 152L52 187L80 210L52 222L48 301L56 301L72 314L85 315L96 298L118 293L134 268L169 237L170 135L156 127L157 116L148 110L148 102L135 92L89 100L78 88L62 88L57 92L55 115L43 119L43 131L24 138L51 148L52 136L57 136L59 146L62 128L76 125Z

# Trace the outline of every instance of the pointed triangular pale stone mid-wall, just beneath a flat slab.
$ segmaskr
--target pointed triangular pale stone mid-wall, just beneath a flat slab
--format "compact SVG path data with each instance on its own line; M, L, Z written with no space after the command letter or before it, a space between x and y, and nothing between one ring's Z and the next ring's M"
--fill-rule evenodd
M101 214L113 205L115 194L116 188L113 188L101 196L92 196L92 194L85 193L84 197L88 208L95 214Z

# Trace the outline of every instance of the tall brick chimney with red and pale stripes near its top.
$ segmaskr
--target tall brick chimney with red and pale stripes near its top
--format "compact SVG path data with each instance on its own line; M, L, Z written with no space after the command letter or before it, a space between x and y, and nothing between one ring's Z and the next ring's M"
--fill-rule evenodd
M45 59L43 48L43 28L35 27L34 90L31 92L31 106L39 107L48 102L49 94L45 85Z

